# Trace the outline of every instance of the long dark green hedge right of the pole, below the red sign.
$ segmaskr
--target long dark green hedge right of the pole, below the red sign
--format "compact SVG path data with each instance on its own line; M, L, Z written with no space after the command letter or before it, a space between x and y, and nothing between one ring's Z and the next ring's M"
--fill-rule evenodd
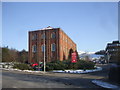
M94 69L95 64L91 61L79 60L77 63L71 63L70 60L52 61L46 64L46 71L65 70L65 69ZM44 66L43 66L44 67ZM42 67L42 70L44 68Z

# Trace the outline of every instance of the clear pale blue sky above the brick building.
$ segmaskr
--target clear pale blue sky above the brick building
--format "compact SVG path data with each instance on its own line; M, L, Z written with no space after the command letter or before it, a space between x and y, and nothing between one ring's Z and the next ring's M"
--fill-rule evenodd
M117 2L3 2L2 46L28 51L28 31L60 27L77 51L104 50L118 40Z

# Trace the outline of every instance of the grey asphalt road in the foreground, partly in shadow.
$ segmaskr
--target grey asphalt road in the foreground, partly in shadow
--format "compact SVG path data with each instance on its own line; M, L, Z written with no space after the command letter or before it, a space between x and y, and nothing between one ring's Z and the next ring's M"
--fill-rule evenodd
M103 70L89 74L28 74L15 71L2 71L3 88L101 88L94 85L93 79L107 77L107 65Z

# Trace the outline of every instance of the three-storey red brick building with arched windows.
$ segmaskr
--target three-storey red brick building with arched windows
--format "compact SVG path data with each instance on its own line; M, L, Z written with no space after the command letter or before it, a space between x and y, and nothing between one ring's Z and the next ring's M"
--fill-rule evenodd
M43 62L45 48L46 62L66 60L70 49L76 50L76 44L61 30L47 27L29 31L29 63Z

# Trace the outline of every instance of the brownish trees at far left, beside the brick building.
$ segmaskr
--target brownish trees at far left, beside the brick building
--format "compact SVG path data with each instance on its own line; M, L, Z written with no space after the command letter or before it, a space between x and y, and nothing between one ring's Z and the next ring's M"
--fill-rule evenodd
M3 62L28 62L28 52L24 49L22 51L18 51L14 48L9 49L7 47L2 47L2 61Z

